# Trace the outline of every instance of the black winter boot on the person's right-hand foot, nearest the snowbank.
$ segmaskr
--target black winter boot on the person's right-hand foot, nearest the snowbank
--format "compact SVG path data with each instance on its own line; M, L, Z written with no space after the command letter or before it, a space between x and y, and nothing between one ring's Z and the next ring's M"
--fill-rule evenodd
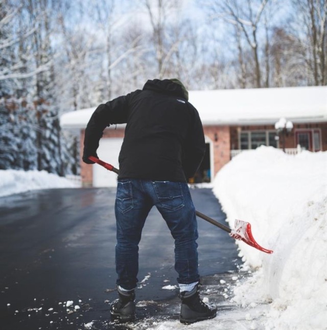
M185 291L179 294L182 300L179 319L181 323L190 324L216 317L216 305L204 303L200 299L199 291L199 284L197 284L192 291Z

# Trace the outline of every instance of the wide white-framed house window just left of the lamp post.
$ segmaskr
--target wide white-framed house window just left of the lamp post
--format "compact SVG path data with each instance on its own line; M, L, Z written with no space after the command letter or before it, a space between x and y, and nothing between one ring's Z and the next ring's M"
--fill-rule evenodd
M260 147L261 145L277 147L277 141L275 140L275 136L275 131L242 131L240 133L240 149L255 149Z

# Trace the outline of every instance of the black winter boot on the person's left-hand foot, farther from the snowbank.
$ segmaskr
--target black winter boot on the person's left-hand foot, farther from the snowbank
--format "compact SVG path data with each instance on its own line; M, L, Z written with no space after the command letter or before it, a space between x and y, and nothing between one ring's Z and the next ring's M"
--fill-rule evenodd
M110 306L111 320L129 322L135 320L135 292L122 291L117 287L119 299L114 300Z

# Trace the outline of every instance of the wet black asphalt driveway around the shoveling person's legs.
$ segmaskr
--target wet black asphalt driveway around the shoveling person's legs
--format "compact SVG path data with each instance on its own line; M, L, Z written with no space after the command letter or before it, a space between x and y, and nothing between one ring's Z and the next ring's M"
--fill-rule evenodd
M191 194L198 211L224 222L211 189L194 188ZM141 324L178 319L178 290L162 289L177 284L174 241L153 208L139 245L141 323L110 322L109 306L116 298L114 199L114 188L49 189L0 198L0 329L85 329L92 321L92 329L145 329ZM224 231L200 218L198 229L203 292L217 301L226 295L226 286L218 292L219 279L231 285L241 261Z

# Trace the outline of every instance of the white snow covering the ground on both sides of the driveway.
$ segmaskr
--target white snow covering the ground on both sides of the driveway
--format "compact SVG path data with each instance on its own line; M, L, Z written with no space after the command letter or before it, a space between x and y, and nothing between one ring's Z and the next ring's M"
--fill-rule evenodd
M202 295L220 301L215 319L182 325L176 301L174 317L143 320L143 325L135 326L152 330L327 329L326 169L327 152L289 156L260 147L233 158L217 175L214 192L230 227L236 218L250 222L254 238L274 253L239 244L243 272L238 278L217 279L217 285L209 285ZM0 171L0 195L72 186L45 172Z

